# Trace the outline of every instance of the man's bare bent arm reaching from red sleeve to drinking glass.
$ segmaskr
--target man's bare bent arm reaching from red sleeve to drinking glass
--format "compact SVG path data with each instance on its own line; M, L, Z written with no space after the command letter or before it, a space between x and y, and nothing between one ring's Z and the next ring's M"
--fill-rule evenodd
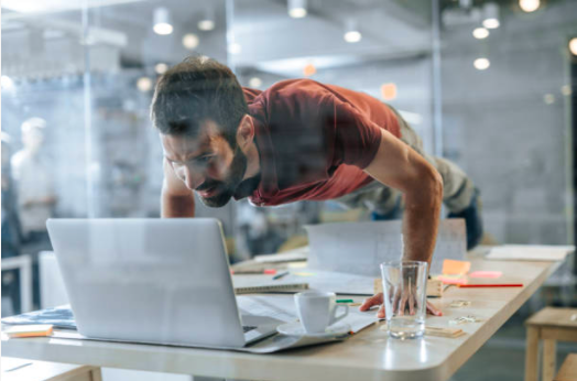
M431 264L443 202L439 173L416 151L382 130L377 155L364 171L374 179L399 189L405 197L403 217L405 260Z

